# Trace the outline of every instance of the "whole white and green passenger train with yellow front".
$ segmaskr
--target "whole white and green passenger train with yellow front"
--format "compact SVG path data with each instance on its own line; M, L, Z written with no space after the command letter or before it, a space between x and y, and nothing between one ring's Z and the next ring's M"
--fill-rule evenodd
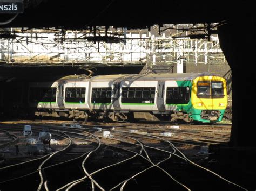
M226 81L204 73L65 76L30 82L28 105L37 116L213 123L227 107Z

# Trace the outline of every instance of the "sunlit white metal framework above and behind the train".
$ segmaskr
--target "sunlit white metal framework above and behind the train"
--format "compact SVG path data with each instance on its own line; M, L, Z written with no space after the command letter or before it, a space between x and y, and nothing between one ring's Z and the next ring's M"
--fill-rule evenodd
M170 29L169 29L170 28ZM184 30L190 29L190 30ZM203 25L153 25L127 30L8 29L0 31L1 65L154 65L184 61L225 62L217 34L207 39L189 36ZM159 29L163 29L161 32ZM191 29L196 29L191 31ZM210 40L210 41L209 41ZM178 72L180 72L178 70Z

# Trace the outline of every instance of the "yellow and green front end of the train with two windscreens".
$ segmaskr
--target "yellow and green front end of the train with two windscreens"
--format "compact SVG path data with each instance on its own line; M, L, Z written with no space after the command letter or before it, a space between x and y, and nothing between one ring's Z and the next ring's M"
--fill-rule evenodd
M213 123L223 119L227 107L226 80L219 76L200 76L192 82L191 118Z

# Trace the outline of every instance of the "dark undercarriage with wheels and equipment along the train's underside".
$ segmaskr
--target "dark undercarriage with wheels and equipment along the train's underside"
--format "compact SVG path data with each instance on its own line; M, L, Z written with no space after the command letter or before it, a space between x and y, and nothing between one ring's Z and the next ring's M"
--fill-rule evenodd
M149 112L149 111L103 111L103 110L55 110L55 109L26 109L15 110L15 112L8 112L11 116L19 116L22 118L30 116L37 117L60 117L69 118L74 121L105 121L105 122L133 122L133 121L170 121L176 123L194 123L191 114L186 112ZM210 120L211 122L217 121L220 117L218 110L202 110L200 114L201 119Z

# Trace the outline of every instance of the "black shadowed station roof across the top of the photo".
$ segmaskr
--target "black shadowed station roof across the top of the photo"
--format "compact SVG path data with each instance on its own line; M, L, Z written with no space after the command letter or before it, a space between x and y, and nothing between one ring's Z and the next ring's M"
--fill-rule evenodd
M114 26L145 29L153 24L221 22L238 17L244 9L248 11L253 7L250 1L230 3L220 0L27 0L23 3L23 13L1 13L0 23L16 18L0 27L60 26L79 30L91 26Z

